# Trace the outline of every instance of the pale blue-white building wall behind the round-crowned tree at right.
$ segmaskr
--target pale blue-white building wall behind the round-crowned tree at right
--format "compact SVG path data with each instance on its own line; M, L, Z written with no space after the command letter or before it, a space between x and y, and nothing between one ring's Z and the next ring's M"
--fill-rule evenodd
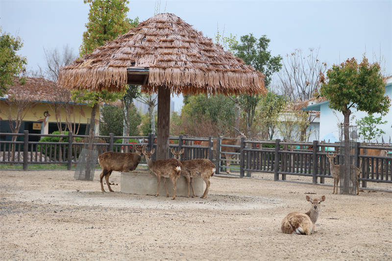
M387 84L385 94L392 98L392 82ZM368 113L351 109L350 125L356 125L355 121L364 118L365 116L368 116ZM380 114L374 114L374 117L380 116ZM339 141L339 126L341 122L343 123L343 119L343 113L330 109L329 103L321 104L319 141ZM388 142L389 137L392 137L392 107L390 107L388 114L382 117L382 120L387 121L387 123L379 125L378 128L386 132L386 134L383 134L382 136L384 137L385 142ZM359 137L357 141L362 142L362 137ZM381 142L381 137L378 139L378 142Z

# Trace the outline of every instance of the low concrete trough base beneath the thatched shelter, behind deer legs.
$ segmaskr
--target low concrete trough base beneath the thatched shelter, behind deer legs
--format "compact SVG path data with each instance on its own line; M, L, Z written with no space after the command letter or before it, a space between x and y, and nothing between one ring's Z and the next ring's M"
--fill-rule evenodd
M196 196L201 196L204 192L203 189L204 181L197 177L193 181L193 187L195 189ZM173 184L170 179L167 179L166 186L169 191L169 195L173 196ZM130 173L121 172L121 192L127 194L137 195L155 195L157 190L157 178L154 174L149 173ZM188 184L184 176L180 175L177 179L177 190L175 191L176 196L186 197L188 194ZM166 196L165 183L163 178L159 183L159 196ZM192 188L190 187L189 196L192 196Z

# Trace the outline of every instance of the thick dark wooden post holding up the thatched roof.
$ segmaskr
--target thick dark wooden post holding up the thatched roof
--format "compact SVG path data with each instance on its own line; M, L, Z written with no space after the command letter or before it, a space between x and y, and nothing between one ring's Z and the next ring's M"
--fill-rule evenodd
M157 160L169 159L169 133L170 131L170 89L158 89L158 135Z

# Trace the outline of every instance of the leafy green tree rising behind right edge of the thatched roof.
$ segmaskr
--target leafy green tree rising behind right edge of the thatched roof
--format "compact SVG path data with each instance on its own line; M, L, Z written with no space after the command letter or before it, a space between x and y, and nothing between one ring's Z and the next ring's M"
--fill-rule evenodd
M272 56L268 50L270 39L263 35L256 39L253 34L241 36L239 43L233 43L234 53L242 58L245 64L252 66L257 71L264 73L265 85L268 88L273 73L282 68L282 57ZM246 135L251 137L251 129L256 116L256 106L260 100L260 95L240 95L239 103L246 121Z

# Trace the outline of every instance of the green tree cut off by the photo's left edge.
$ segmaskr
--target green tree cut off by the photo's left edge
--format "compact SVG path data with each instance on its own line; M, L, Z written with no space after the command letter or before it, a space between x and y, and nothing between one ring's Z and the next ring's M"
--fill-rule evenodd
M20 37L3 33L0 28L0 97L14 84L14 77L25 71L27 60L16 54L23 47ZM24 79L21 79L22 83Z

